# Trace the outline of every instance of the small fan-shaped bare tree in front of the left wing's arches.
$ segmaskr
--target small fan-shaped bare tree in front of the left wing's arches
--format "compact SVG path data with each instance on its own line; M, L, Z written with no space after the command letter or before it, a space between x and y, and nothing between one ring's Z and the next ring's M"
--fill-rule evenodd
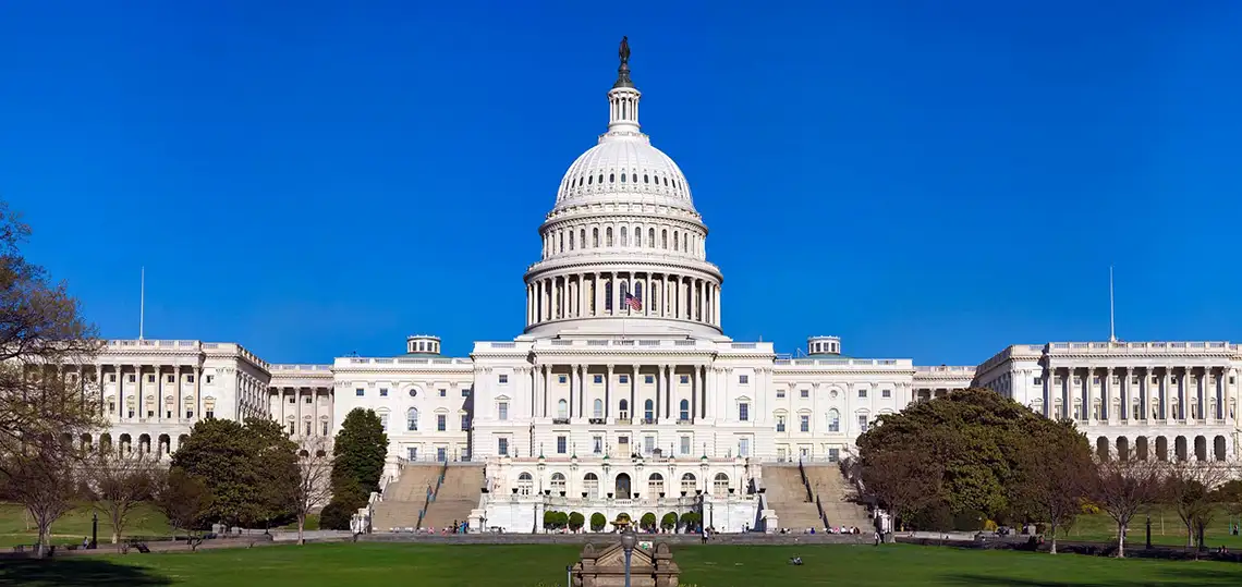
M99 450L87 460L87 498L112 522L112 544L124 532L129 513L152 498L156 470L156 458L138 450Z

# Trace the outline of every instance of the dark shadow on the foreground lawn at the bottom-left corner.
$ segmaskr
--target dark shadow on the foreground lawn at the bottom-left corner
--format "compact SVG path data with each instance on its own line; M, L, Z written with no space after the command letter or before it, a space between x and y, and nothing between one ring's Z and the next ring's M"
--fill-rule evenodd
M173 585L147 568L117 565L102 557L16 558L0 563L0 586L24 587L153 587Z

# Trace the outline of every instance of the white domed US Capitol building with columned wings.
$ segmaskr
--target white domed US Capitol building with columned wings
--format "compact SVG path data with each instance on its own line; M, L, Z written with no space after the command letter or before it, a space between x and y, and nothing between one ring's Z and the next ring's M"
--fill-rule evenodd
M835 336L811 336L805 357L730 339L707 226L682 170L642 133L641 97L622 45L607 129L539 226L515 339L451 359L416 335L401 355L330 365L113 340L84 372L102 382L112 428L82 442L168 454L202 417L271 417L304 439L374 410L390 483L417 462L486 463L468 518L505 531L529 531L546 509L637 519L657 499L657 515L709 508L718 530L755 527L781 515L759 491L765 467L836 462L877 417L969 386L1073 418L1100 452L1238 454L1238 344L1015 345L976 367L847 357Z

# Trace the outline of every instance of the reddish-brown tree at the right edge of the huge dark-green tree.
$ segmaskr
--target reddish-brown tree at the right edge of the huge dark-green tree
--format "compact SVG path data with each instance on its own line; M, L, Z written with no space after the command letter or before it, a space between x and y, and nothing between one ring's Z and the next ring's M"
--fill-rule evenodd
M1087 438L1071 421L1046 419L1036 427L1017 458L1018 506L1047 521L1057 553L1057 527L1073 524L1082 511L1092 475Z

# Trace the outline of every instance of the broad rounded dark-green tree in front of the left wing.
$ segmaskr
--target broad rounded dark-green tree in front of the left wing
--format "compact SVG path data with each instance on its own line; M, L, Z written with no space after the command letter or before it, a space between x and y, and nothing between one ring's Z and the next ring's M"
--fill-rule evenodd
M255 525L291 515L297 444L268 419L202 419L173 455L173 467L200 478L211 493L205 519Z

